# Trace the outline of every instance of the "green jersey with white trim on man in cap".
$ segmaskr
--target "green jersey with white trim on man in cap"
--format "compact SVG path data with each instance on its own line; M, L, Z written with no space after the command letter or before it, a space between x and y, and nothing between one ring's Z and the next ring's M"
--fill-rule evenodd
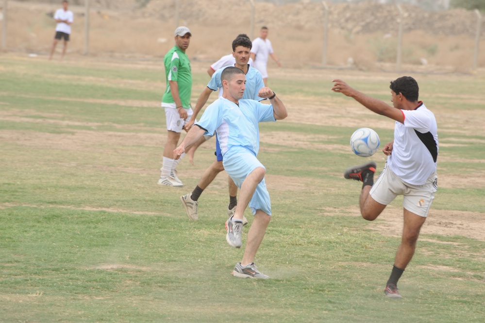
M185 109L190 108L190 96L192 94L192 72L187 55L177 46L174 46L164 57L165 80L167 89L163 95L162 106L174 107L170 84L168 81L176 81L179 85L179 97Z

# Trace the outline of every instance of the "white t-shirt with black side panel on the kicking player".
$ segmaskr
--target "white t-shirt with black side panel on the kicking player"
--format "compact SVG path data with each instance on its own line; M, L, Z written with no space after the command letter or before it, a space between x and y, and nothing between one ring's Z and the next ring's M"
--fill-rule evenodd
M394 145L387 157L391 170L404 182L423 185L436 172L438 134L433 112L422 102L414 110L401 110L404 123L394 125Z

